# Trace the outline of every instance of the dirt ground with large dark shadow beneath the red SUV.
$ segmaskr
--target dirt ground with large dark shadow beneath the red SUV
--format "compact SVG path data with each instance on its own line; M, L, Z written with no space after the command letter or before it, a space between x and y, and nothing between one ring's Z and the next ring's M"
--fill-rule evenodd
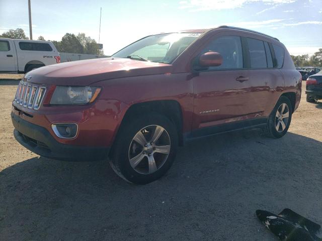
M305 82L285 137L190 142L165 177L137 186L107 161L55 161L19 145L12 78L0 75L0 240L277 240L255 210L286 207L322 224L322 102L305 101Z

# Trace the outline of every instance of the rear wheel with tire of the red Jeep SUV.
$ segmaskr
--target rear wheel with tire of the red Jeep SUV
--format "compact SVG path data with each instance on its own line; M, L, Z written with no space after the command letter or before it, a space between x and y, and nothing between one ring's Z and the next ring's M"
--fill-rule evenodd
M287 133L291 119L291 101L286 96L281 96L268 118L264 133L271 138L283 137Z

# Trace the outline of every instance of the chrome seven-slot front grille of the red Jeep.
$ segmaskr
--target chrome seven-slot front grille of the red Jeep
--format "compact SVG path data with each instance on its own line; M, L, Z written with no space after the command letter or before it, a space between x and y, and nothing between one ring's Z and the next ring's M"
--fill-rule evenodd
M39 109L46 93L45 86L20 81L15 96L15 101L29 109Z

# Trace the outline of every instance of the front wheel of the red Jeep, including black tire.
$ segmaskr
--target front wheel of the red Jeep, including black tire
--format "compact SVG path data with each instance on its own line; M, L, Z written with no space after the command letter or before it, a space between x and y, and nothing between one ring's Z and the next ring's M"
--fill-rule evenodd
M146 184L162 177L175 160L178 134L165 116L143 115L121 127L110 164L123 179Z

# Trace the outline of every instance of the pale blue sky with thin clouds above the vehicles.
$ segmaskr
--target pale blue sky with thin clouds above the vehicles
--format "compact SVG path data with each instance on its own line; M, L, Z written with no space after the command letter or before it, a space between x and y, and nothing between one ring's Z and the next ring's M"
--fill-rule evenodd
M33 37L60 40L79 32L101 43L109 55L149 34L220 25L248 28L277 37L291 54L322 48L322 0L62 1L31 0ZM28 1L0 0L0 33L23 28Z

